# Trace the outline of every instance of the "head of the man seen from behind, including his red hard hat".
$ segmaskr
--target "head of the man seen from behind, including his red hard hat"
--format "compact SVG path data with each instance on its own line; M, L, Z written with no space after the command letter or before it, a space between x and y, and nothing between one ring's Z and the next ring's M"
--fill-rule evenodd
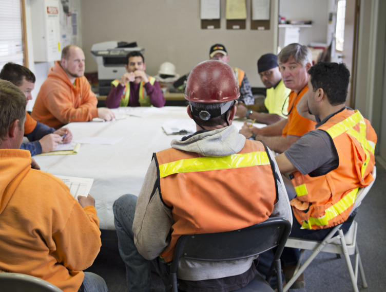
M227 114L239 97L239 84L228 64L207 60L190 71L185 99L189 101L193 119L201 127L227 123Z

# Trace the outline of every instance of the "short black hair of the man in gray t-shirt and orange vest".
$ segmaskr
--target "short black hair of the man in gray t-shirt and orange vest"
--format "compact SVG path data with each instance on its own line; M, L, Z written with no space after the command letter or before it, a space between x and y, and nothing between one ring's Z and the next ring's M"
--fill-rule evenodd
M344 63L319 62L308 70L314 92L322 88L331 105L346 101L350 71Z

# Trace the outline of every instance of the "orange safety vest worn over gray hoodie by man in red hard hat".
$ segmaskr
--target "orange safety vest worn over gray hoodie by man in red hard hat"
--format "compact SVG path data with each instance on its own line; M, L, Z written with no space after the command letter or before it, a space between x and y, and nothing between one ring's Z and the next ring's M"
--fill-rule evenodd
M265 221L278 200L274 163L264 144L246 140L224 157L167 149L154 155L161 200L171 209L171 240L161 253L169 262L184 234L236 230Z

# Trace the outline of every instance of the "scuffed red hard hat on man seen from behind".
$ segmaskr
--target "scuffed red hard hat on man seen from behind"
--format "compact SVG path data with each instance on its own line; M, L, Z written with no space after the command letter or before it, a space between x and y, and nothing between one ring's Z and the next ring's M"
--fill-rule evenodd
M199 103L220 103L240 96L235 72L228 64L207 60L191 69L185 99Z

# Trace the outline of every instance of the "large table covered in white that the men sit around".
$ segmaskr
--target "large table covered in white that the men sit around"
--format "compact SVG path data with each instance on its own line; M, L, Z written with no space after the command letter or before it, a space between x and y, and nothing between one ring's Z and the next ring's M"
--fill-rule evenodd
M114 230L112 205L123 194L138 195L150 164L152 154L170 148L172 139L184 135L166 135L162 125L170 120L195 123L185 106L126 107L115 109L126 118L112 122L82 122L66 125L73 141L84 137L110 137L122 139L113 144L82 144L78 154L35 156L43 171L54 175L93 178L90 190L100 218L100 228ZM139 116L131 116L139 115ZM244 120L235 122L241 128Z

